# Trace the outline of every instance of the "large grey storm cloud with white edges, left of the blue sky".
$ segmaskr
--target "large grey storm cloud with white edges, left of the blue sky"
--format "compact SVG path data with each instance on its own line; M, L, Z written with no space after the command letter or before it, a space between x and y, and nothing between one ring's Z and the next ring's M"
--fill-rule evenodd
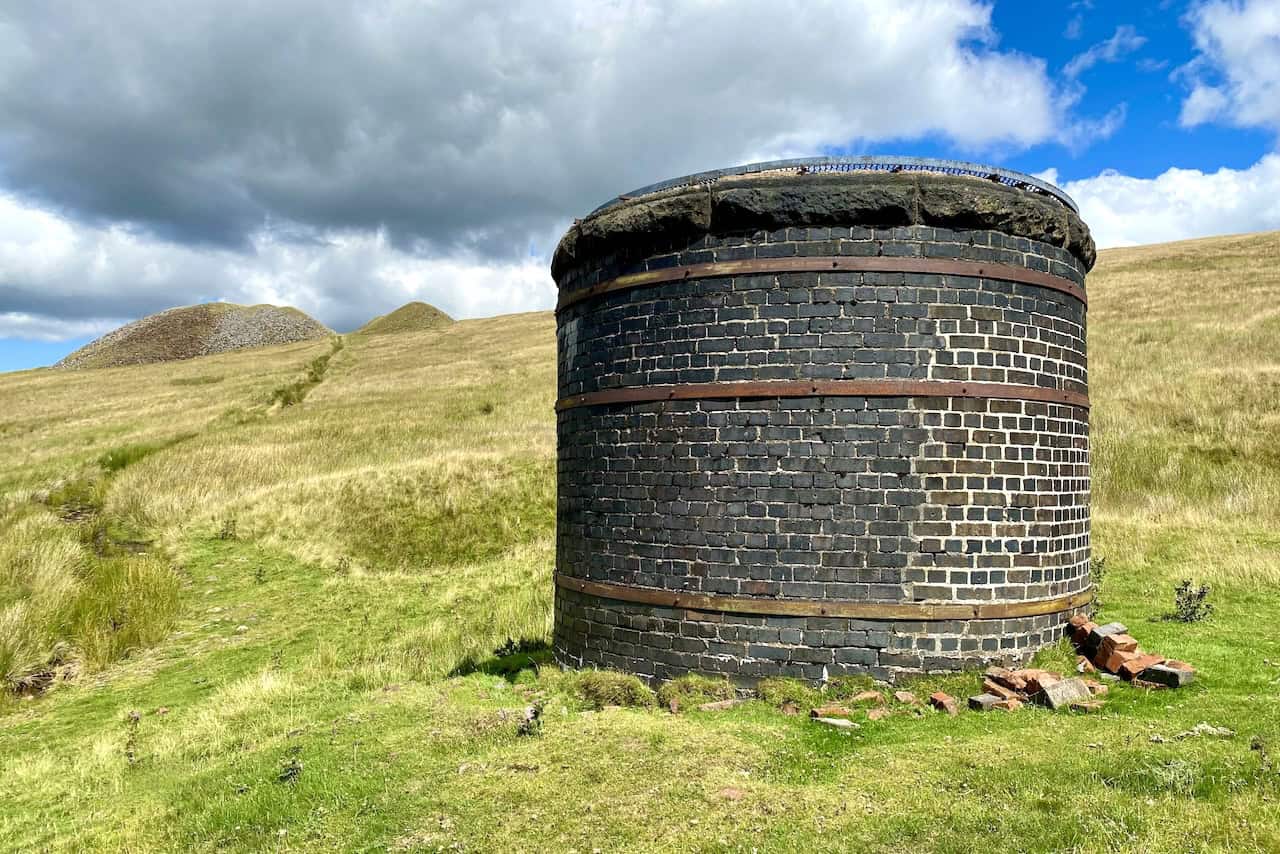
M47 264L0 237L0 314L543 307L530 255L618 192L923 137L1075 145L1078 97L973 0L18 0L0 195L65 234Z

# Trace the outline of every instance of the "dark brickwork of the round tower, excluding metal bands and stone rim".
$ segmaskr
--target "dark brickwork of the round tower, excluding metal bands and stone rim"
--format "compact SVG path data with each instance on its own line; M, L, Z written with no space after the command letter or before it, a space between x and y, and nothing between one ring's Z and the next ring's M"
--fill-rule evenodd
M1071 220L1060 230L1078 228ZM710 229L646 234L641 245L650 252L643 259L562 262L561 292L641 270L763 259L952 259L1078 286L1092 264L1091 242L1078 257L1016 234L932 225ZM562 399L758 380L1088 391L1080 300L951 273L764 271L641 284L567 305L558 344ZM1085 593L1088 410L1019 393L562 408L557 571L760 602L1000 606ZM751 616L562 586L556 649L568 665L652 679L817 679L824 667L892 679L1023 659L1060 638L1076 609L970 620Z

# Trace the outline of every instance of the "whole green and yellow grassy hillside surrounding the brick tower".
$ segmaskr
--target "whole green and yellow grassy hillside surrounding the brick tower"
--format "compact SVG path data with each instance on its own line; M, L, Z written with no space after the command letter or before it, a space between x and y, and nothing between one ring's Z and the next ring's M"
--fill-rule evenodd
M0 644L24 625L27 661L59 662L0 700L0 848L1275 850L1277 256L1280 234L1219 238L1091 277L1105 615L1202 672L1098 716L846 735L763 700L595 711L530 666L550 314L0 376ZM116 607L42 621L55 577ZM1158 620L1183 577L1215 585L1210 622ZM1238 735L1172 737L1201 721Z

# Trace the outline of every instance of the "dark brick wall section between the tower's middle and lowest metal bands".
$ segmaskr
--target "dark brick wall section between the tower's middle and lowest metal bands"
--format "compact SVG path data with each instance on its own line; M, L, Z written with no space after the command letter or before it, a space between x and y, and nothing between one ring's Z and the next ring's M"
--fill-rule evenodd
M1088 585L1088 425L1056 403L767 398L559 414L557 567L874 602Z

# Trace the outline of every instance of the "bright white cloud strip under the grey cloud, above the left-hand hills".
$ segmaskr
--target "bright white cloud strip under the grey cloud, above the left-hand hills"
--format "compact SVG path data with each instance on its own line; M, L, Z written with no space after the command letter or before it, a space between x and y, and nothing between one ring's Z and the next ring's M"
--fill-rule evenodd
M293 305L349 329L410 300L461 318L548 309L541 259L417 256L380 232L280 239L246 251L189 247L120 227L88 227L0 195L0 337L56 341L212 300Z

